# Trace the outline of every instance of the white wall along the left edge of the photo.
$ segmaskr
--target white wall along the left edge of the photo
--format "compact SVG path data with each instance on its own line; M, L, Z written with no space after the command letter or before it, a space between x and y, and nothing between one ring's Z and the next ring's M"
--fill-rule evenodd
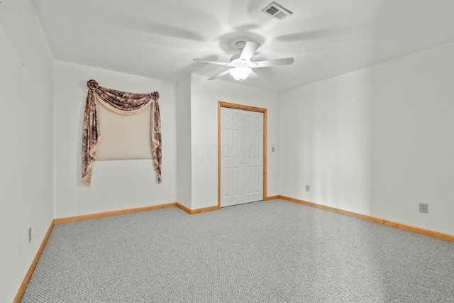
M53 62L31 1L2 1L0 25L0 302L6 303L53 219Z

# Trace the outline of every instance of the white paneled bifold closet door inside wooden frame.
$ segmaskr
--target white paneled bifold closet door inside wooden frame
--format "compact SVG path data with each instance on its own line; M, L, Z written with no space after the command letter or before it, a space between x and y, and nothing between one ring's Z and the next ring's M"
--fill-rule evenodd
M221 207L263 199L263 113L221 107Z

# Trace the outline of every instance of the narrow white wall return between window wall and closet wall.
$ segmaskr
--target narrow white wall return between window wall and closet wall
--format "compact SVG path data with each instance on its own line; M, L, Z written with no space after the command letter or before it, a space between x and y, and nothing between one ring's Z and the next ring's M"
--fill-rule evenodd
M177 84L177 199L192 207L191 76Z

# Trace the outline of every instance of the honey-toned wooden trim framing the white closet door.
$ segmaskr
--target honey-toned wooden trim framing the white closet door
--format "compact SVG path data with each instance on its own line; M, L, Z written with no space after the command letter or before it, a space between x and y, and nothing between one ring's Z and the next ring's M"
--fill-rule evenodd
M263 113L263 200L267 200L267 109L218 101L218 207L221 208L221 107Z

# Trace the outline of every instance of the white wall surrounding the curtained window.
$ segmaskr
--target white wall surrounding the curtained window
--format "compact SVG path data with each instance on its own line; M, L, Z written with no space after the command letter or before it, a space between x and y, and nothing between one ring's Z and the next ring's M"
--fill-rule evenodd
M162 183L145 160L96 161L82 184L87 80L127 92L160 93ZM55 218L177 202L176 84L55 60ZM101 134L102 140L102 134Z

